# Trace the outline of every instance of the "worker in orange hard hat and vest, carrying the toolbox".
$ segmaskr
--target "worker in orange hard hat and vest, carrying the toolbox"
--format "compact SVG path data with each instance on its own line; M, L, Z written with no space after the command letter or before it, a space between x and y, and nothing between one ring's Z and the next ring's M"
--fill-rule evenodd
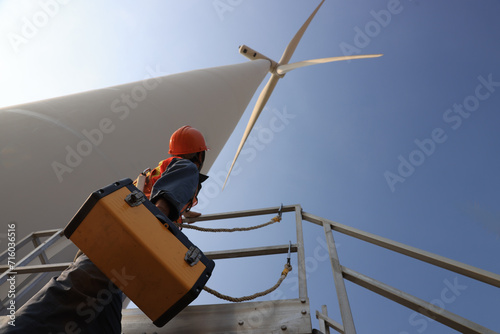
M190 212L197 202L200 174L207 146L200 131L183 126L175 131L169 144L170 158L147 173L145 193L170 220ZM126 283L126 272L115 281ZM120 281L120 282L118 282ZM15 326L6 319L3 333L121 333L123 293L85 254L78 256L58 277L52 278L15 313Z

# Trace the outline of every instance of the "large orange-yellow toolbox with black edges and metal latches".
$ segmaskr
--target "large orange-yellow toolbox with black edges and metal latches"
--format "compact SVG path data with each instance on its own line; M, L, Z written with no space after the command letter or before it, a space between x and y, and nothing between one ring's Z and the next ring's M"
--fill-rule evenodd
M158 327L199 295L214 268L130 179L92 193L64 234Z

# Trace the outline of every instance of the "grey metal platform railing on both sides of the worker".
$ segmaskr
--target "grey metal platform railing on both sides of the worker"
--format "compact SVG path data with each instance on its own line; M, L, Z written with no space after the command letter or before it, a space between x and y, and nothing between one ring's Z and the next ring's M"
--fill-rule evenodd
M222 214L210 214L203 215L197 218L186 219L187 222L203 222L203 221L215 221L222 219L240 218L240 217L250 217L250 216L260 216L277 213L280 210L279 207L272 207L266 209L258 210L246 210L238 212L228 212ZM401 290L395 289L388 286L382 282L379 282L373 278L367 277L361 273L351 270L345 266L342 266L337 253L337 248L335 245L335 240L333 232L342 233L349 235L356 239L363 240L365 242L374 244L379 247L389 249L391 251L403 254L405 256L418 259L420 261L456 272L458 274L465 275L474 280L484 282L486 284L500 287L500 275L482 270L458 261L454 261L440 255L436 255L424 250L417 249L387 238L383 238L368 232L364 232L346 225L336 223L334 221L324 219L306 212L302 212L300 205L288 205L282 207L282 212L295 212L295 225L296 225L296 236L297 240L295 244L292 244L291 251L297 253L297 263L298 268L298 287L299 287L299 300L305 305L308 303L308 293L307 293L307 281L306 281L306 266L305 266L305 251L304 251L304 237L303 237L303 220L310 223L321 226L325 233L325 238L328 246L328 252L330 257L330 262L333 271L334 283L336 288L336 294L338 298L338 304L340 307L340 314L342 322L336 322L335 320L328 317L328 312L326 306L322 307L322 311L316 311L316 318L319 320L319 331L312 330L307 331L307 333L318 333L323 334L330 333L330 328L334 329L339 333L353 334L356 333L355 323L353 320L351 307L349 305L349 299L347 291L345 288L345 280L355 283L361 287L364 287L372 292L375 292L383 297L386 297L392 301L395 301L403 306L406 306L416 312L419 312L427 317L432 317L432 319L464 333L495 333L494 331L485 328L479 324L476 324L470 320L460 317L446 310L436 311L434 305L424 300L421 300L415 296L407 294ZM50 237L43 243L39 242L39 237L48 236ZM30 240L33 240L35 249L25 256L17 265L13 268L8 268L8 266L0 266L0 285L5 283L7 276L16 272L19 274L33 274L42 273L47 271L60 271L66 268L69 263L60 264L50 264L48 263L47 256L45 256L45 251L49 249L58 238L62 236L62 230L51 230L44 232L32 233L30 236L26 237L19 242L18 246L22 247L26 245ZM235 250L224 250L224 251L214 251L205 252L205 255L211 259L228 259L228 258L240 258L249 256L261 256L261 255L272 255L272 254L282 254L287 253L289 250L289 245L273 245L267 247L255 247L255 248L245 248L245 249L235 249ZM40 259L42 264L40 265L29 265L34 259ZM0 259L5 259L5 253L0 255ZM24 283L24 282L23 282ZM33 286L26 283L23 287L25 290ZM234 304L233 304L234 305ZM227 306L225 306L227 307ZM304 314L304 310L302 310ZM126 319L126 316L124 317ZM136 318L134 318L136 319ZM142 318L141 318L142 319ZM174 319L175 320L175 319ZM276 319L274 319L275 321ZM136 320L134 320L136 321ZM143 325L150 323L147 318L144 318ZM192 321L192 319L190 320ZM238 328L238 324L235 324L235 328ZM241 324L240 324L241 326ZM241 328L241 327L240 327ZM157 329L158 331L158 329ZM124 331L128 333L127 331ZM135 333L130 331L130 333ZM170 333L168 331L158 331L158 333ZM301 332L302 333L302 332ZM306 332L304 332L306 333Z

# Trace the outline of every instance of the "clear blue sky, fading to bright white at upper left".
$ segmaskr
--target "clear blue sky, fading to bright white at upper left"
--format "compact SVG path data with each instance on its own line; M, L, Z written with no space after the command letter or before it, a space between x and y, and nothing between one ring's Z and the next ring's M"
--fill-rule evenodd
M171 74L245 62L241 44L279 60L319 1L54 3L0 2L1 106L137 81L148 68ZM48 20L36 21L41 11L51 14ZM254 97L209 172L199 211L301 204L318 216L500 273L499 12L493 0L327 0L292 62L384 56L288 73L222 192L218 180ZM24 36L22 42L13 34ZM186 234L207 251L285 244L295 240L294 217L285 218L259 232ZM329 261L314 255L322 235L305 224L311 311L327 304L340 321ZM427 301L444 302L447 284L458 282L465 288L445 308L500 331L497 288L335 238L344 266ZM284 262L284 255L221 260L208 285L251 294L274 284ZM347 288L359 333L454 332L363 288ZM297 295L290 283L281 291ZM197 300L217 302L205 294Z

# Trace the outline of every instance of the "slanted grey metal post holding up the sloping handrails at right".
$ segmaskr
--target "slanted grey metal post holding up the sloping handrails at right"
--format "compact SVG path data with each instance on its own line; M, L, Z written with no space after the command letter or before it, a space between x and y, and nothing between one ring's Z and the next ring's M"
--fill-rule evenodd
M347 291L345 289L344 277L342 276L342 268L340 267L339 256L333 239L332 227L329 223L323 222L323 229L325 231L328 253L330 254L330 261L332 264L333 279L340 306L342 325L346 334L354 334L356 333L356 328L354 327L351 306L349 305L349 298L347 297Z

